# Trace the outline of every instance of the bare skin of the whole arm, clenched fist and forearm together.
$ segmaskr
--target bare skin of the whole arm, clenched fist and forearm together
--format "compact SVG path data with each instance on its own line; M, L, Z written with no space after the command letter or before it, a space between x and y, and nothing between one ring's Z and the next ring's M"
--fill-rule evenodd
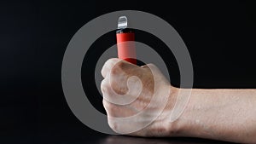
M178 91L183 89L173 87L156 66L148 64L140 67L125 60L110 59L102 67L102 76L103 106L108 114L109 126L117 133L256 143L256 89L192 89L183 113L171 122ZM127 95L129 90L138 90L137 85L140 84L136 78L127 83L131 76L140 79L143 89L139 95ZM163 96L166 94L167 99ZM134 101L125 105L113 102L121 95L134 97ZM156 96L154 99L153 95ZM166 105L161 109L165 101ZM153 105L148 105L149 102ZM128 118L141 111L145 114L130 118L128 122L115 119ZM143 124L148 125L129 132Z

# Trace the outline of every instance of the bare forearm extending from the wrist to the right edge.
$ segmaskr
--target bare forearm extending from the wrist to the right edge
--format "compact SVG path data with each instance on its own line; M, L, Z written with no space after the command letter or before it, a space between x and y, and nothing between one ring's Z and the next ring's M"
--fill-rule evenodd
M255 143L256 89L193 89L178 135Z

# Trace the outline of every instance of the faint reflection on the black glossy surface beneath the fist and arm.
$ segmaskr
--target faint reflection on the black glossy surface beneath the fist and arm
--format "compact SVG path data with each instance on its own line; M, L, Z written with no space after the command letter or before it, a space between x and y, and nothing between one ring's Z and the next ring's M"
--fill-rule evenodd
M142 138L123 135L110 135L100 141L100 144L208 144L230 143L196 138Z

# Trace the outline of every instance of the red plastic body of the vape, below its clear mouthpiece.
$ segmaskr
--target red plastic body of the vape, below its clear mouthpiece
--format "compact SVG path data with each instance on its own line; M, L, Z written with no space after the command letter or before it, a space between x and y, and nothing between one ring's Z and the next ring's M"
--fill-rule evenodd
M117 47L119 59L137 64L134 32L117 33Z

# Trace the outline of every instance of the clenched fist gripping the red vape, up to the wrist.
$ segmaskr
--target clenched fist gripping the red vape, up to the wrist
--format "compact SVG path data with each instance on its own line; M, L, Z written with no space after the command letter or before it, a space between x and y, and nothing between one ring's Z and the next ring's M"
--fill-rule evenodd
M177 131L175 123L168 122L177 88L156 66L110 59L102 67L102 76L103 106L114 131L140 136L170 136Z

